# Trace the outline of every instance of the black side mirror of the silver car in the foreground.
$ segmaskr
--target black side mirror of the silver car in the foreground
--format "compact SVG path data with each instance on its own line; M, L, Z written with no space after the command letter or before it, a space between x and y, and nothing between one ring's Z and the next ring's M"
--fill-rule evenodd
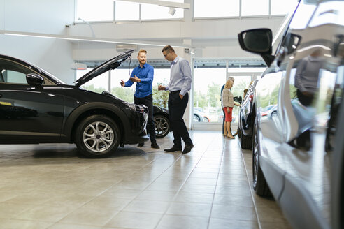
M271 29L249 29L238 34L241 48L245 51L260 54L267 66L270 66L275 58L272 53Z

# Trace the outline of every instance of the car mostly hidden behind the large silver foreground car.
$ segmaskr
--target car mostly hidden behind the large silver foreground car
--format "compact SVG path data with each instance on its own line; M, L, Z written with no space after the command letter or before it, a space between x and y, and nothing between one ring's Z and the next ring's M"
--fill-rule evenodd
M252 102L257 82L258 80L252 82L239 109L238 136L242 149L252 148L252 129L255 121L252 119Z

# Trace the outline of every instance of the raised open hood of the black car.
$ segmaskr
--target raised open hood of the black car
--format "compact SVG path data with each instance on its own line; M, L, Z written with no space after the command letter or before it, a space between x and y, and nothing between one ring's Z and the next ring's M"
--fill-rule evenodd
M92 80L94 77L97 77L98 75L101 75L102 73L105 73L109 71L110 69L113 70L115 68L118 68L122 64L123 61L125 61L128 57L130 57L131 53L133 52L134 50L128 50L127 52L123 52L122 54L119 54L118 56L113 57L113 59L109 59L103 64L92 69L92 71L89 71L89 73L86 73L85 75L80 77L74 83L76 84L77 87L80 87L86 82L89 82L89 80Z

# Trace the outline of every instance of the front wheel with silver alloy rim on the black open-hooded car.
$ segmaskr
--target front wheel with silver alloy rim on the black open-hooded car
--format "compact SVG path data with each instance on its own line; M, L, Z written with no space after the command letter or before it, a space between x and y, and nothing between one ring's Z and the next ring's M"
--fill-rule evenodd
M92 115L76 128L74 139L78 150L88 158L106 158L120 145L120 131L113 119Z

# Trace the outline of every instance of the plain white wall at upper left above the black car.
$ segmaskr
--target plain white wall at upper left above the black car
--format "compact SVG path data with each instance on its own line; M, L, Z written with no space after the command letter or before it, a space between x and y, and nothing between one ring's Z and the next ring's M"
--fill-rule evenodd
M68 40L8 36L1 31L66 34L74 18L73 0L0 0L0 54L31 62L67 83L74 80Z

